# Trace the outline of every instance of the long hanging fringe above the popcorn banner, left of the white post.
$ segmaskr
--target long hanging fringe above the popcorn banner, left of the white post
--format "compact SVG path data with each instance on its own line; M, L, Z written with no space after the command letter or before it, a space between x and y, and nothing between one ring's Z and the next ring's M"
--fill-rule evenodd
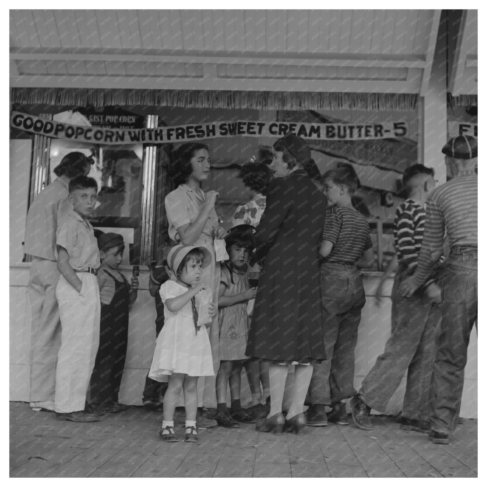
M57 107L148 106L254 110L415 111L418 94L10 88L10 101Z

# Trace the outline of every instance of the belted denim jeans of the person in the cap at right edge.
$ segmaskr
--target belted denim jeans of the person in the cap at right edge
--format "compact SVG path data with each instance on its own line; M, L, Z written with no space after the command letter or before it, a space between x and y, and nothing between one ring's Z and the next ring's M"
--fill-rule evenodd
M431 423L433 430L449 433L458 424L468 342L477 319L476 255L450 254L442 294L440 344L431 382Z

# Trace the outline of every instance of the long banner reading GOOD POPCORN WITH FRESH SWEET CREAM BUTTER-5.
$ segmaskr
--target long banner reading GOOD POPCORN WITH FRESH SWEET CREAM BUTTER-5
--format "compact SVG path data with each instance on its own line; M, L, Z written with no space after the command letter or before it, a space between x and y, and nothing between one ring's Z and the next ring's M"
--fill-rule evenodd
M45 120L20 112L12 112L10 126L56 139L106 145L167 144L190 141L191 139L205 140L229 136L282 137L287 132L293 132L299 137L312 140L389 139L404 137L408 133L407 122L357 125L235 120L208 122L199 125L157 127L155 129L107 129Z

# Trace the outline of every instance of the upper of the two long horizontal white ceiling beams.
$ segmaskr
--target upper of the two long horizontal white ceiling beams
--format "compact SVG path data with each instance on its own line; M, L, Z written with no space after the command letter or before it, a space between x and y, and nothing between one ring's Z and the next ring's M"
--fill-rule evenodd
M13 60L135 61L196 64L255 64L284 66L338 66L375 68L424 68L425 56L384 54L245 53L219 51L167 51L150 49L32 49L10 51Z

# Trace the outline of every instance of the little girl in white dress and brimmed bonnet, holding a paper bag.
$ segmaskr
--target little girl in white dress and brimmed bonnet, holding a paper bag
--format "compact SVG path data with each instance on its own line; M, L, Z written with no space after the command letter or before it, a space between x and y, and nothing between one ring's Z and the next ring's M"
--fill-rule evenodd
M198 377L214 375L208 333L205 326L198 326L200 297L206 290L206 284L199 281L203 268L210 262L211 254L205 247L176 245L169 252L168 264L177 280L166 281L159 291L164 303L164 327L156 340L149 377L159 382L169 381L159 431L167 442L179 441L174 434L173 416L181 389L186 409L185 441L198 440L196 383ZM208 327L216 313L215 304L210 302Z

